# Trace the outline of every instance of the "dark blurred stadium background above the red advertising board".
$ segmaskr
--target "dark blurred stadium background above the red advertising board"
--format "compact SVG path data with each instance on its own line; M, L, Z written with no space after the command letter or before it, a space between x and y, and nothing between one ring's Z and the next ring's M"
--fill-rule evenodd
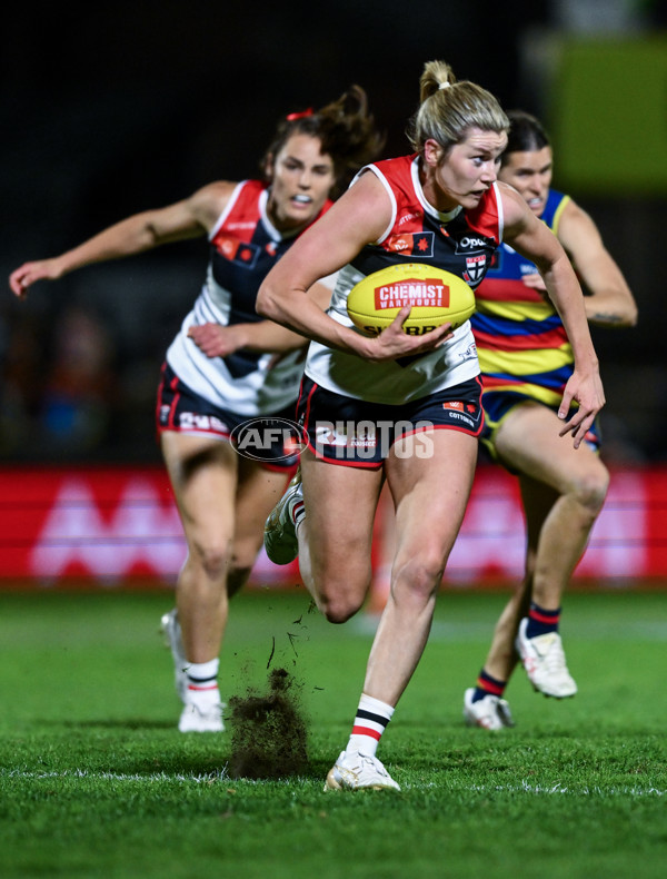
M388 132L387 154L398 155L407 149L402 132L422 65L432 58L450 61L459 78L489 88L508 109L524 107L557 128L554 83L540 71L554 39L577 37L564 23L564 6L12 4L3 16L0 87L0 269L7 277L27 259L53 256L212 179L255 175L282 113L322 105L352 82L366 88ZM638 4L630 37L665 36L660 9ZM591 106L591 119L605 109ZM656 111L647 126L665 127L665 106ZM631 161L643 161L643 137L638 130ZM640 312L635 330L595 330L608 396L607 458L659 464L667 457L667 177L640 194L586 181L570 191L598 221ZM6 285L0 462L158 462L159 366L205 263L201 239L39 285L26 304ZM72 415L59 408L53 384L80 337L97 378Z

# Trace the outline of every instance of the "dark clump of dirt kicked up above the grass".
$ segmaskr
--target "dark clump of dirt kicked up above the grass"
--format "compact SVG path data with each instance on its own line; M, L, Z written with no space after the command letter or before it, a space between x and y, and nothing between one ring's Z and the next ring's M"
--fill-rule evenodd
M230 778L278 779L307 772L308 731L299 695L289 672L272 669L266 695L249 691L228 700Z

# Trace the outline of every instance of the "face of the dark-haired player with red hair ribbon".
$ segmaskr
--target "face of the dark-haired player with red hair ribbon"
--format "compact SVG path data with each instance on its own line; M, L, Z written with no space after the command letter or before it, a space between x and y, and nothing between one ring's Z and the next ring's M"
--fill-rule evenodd
M307 226L327 200L336 176L334 160L320 150L319 138L297 134L270 162L268 211L279 231Z

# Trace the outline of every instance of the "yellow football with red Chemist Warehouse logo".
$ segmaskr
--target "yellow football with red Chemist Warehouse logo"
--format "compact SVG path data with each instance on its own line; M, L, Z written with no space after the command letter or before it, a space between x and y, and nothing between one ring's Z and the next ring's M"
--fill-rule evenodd
M399 310L412 310L404 332L421 336L441 324L456 329L475 310L475 294L462 278L422 263L402 263L367 275L348 294L347 310L352 324L377 336Z

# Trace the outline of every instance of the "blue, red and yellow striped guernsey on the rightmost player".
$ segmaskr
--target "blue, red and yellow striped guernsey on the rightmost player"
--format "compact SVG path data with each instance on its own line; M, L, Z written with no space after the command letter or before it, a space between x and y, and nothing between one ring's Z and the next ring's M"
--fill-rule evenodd
M541 219L555 234L568 201L569 196L549 190ZM470 323L491 428L521 397L557 407L573 373L573 350L557 310L522 282L536 271L530 260L502 244L476 290Z

